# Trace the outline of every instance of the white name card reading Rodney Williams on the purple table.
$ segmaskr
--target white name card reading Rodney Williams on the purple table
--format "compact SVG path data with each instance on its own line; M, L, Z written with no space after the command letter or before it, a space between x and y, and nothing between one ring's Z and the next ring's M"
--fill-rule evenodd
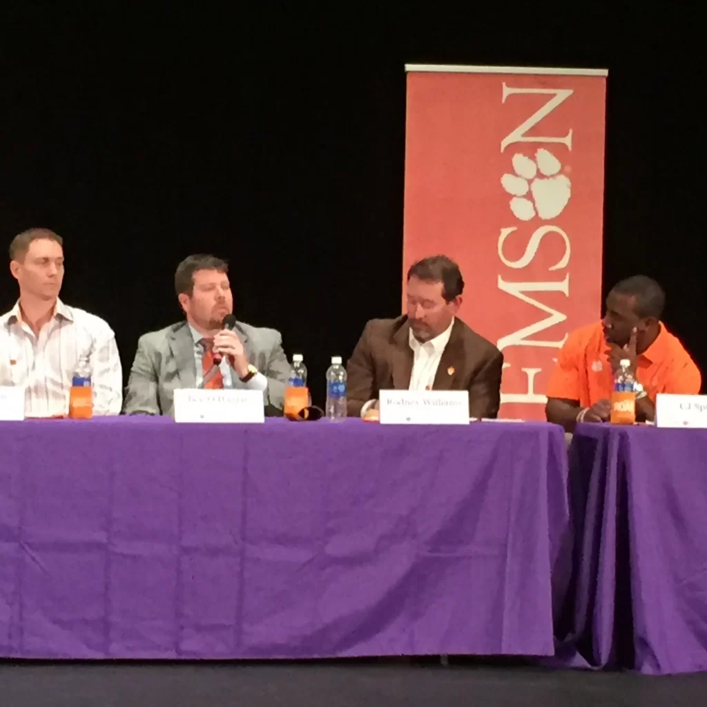
M382 425L468 425L468 390L381 390Z

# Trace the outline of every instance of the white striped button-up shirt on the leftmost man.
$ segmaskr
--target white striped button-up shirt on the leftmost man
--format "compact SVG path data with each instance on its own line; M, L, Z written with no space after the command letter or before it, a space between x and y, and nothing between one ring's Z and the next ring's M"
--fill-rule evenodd
M119 415L123 373L115 334L107 322L61 300L38 337L22 321L19 302L0 317L0 385L25 388L25 416L66 415L71 380L86 360L93 414Z

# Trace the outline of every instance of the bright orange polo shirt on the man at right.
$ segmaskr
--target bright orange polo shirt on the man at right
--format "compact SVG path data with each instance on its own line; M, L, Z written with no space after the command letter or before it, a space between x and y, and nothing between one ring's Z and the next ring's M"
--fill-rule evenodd
M582 407L611 398L614 374L604 354L608 348L601 322L572 332L557 357L547 397L578 400ZM636 378L653 402L657 393L697 395L702 384L699 368L662 322L658 338L638 355Z

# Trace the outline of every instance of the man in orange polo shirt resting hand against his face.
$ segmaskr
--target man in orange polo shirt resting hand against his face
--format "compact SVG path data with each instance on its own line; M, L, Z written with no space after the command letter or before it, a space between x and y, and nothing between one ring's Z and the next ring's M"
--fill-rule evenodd
M697 395L701 375L677 337L660 321L665 293L649 277L622 280L607 297L601 322L572 332L557 358L545 414L571 432L578 422L605 422L621 359L636 378L636 419L652 421L655 395Z

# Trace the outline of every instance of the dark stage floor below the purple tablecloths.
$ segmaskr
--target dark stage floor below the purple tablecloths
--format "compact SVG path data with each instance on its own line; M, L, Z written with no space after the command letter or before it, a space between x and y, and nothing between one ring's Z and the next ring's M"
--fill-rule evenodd
M643 677L452 660L0 662L3 707L694 707L707 674Z

